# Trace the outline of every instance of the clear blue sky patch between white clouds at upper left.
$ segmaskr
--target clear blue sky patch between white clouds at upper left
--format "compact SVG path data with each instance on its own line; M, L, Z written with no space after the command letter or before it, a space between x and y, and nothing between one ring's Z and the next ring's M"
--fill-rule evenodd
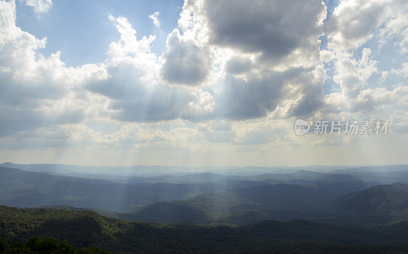
M156 35L152 51L161 54L167 35L177 26L183 1L55 1L52 10L36 15L30 6L17 2L16 24L38 38L47 37L40 52L50 55L61 51L67 66L103 62L111 41L119 33L108 20L109 14L125 16L137 30L137 36ZM160 12L162 24L156 28L148 15ZM75 39L73 39L75 38Z

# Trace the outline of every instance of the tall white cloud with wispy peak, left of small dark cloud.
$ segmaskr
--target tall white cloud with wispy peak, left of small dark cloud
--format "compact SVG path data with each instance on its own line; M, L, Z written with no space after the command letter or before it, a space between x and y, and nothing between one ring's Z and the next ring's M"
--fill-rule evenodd
M108 109L116 120L154 122L180 118L196 97L184 87L158 82L160 64L150 50L155 37L144 36L139 40L126 18L109 16L109 19L120 34L119 41L110 43L104 63L109 77L88 83L86 88L111 99ZM197 107L195 104L196 110Z

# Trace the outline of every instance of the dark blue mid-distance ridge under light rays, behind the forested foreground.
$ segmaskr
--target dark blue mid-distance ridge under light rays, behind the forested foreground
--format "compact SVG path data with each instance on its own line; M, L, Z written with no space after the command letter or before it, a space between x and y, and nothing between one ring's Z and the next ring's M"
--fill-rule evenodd
M338 215L331 201L376 183L274 184L199 194L186 200L157 202L139 210L158 223L226 222L243 225L262 219L289 220ZM246 212L253 211L247 214Z

